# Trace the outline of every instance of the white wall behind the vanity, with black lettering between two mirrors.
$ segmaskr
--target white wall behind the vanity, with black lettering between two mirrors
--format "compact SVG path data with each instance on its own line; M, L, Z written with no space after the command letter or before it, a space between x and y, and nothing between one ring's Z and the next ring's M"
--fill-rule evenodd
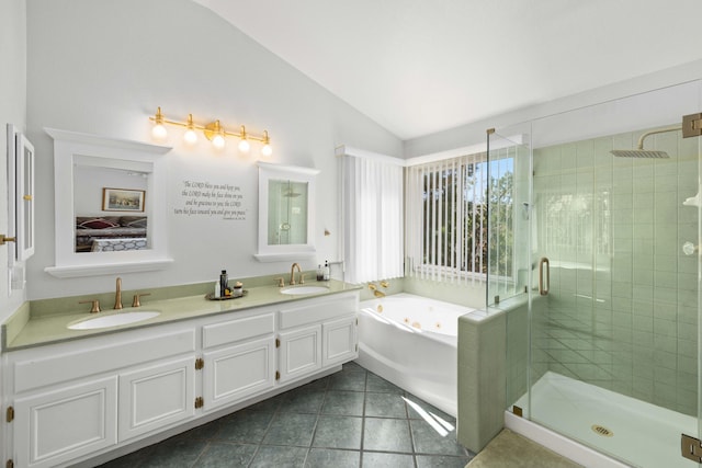
M315 201L316 267L337 260L338 191L335 147L349 145L400 156L401 141L210 10L188 0L33 0L27 4L27 130L35 145L36 253L29 264L29 298L111 290L114 277L58 279L54 265L53 140L44 127L152 142L148 117L192 113L219 118L236 130L270 133L270 162L321 170ZM126 289L283 273L290 262L259 263L256 151L224 153L208 141L190 149L169 128L174 149L161 167L168 175L169 270L123 274ZM254 148L256 149L256 148ZM183 181L234 184L245 194L246 221L176 215ZM148 195L147 195L148 196ZM328 229L331 236L325 237Z

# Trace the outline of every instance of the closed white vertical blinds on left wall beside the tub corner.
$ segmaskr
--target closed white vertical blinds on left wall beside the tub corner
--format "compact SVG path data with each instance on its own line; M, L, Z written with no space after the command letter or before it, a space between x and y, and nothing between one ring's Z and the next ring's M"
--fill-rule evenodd
M403 276L403 161L344 148L341 179L346 281Z

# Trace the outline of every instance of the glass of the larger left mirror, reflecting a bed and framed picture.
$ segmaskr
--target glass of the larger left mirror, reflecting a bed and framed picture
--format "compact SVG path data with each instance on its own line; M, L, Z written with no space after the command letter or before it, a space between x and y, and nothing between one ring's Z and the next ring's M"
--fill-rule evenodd
M148 173L77 164L73 176L77 253L149 248Z

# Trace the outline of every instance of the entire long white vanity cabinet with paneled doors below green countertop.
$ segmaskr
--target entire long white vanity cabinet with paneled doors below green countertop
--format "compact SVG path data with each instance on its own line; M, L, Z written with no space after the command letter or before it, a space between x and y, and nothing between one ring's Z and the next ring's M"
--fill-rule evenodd
M358 356L358 304L343 292L5 352L5 464L86 465L329 374Z

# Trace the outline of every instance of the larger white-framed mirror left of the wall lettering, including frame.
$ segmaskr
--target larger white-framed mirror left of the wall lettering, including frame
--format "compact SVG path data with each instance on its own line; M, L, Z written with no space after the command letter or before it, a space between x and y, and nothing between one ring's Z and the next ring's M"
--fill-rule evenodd
M161 270L169 147L47 128L54 138L57 277Z

